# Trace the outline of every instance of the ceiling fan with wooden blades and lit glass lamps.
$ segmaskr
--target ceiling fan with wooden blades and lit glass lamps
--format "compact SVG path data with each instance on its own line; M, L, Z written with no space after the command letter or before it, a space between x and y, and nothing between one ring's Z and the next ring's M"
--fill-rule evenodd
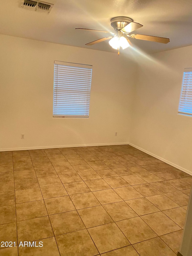
M129 47L130 45L133 47L131 41L129 40L129 37L135 38L135 39L146 40L146 41L163 43L163 44L167 44L170 42L169 38L164 38L164 37L157 37L157 36L151 36L151 35L140 35L140 34L131 34L130 35L130 33L132 31L143 27L143 25L141 25L140 23L133 22L133 20L131 18L118 16L118 17L111 18L110 21L111 21L111 26L115 29L115 32L95 30L95 29L84 29L84 30L88 30L88 31L112 34L111 36L98 39L96 41L90 42L85 45L93 45L93 44L97 44L97 43L100 43L100 42L110 39L110 41L109 41L110 46L112 48L118 50L118 55L119 55L120 47L122 47L122 49L125 49L125 48ZM76 29L82 29L82 28L76 28Z

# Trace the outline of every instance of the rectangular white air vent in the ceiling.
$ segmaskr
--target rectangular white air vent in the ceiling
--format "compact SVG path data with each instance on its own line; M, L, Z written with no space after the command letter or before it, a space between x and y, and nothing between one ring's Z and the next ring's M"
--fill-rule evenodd
M34 11L43 11L49 13L53 7L53 4L31 0L21 0L21 7L24 9L30 9Z

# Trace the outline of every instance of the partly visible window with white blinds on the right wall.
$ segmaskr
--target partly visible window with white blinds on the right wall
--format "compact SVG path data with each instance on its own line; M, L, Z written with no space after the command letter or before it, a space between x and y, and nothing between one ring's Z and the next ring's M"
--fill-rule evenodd
M192 68L184 69L178 113L192 116Z

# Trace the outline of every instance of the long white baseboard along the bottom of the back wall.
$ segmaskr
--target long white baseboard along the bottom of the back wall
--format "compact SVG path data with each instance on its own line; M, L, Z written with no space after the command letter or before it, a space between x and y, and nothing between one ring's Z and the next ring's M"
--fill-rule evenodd
M116 143L97 143L97 144L41 146L41 147L26 147L26 148L8 148L8 149L0 149L0 152L2 152L2 151L18 151L18 150L33 150L33 149L56 149L56 148L91 147L91 146L112 146L112 145L128 145L128 144L129 144L128 142L116 142Z

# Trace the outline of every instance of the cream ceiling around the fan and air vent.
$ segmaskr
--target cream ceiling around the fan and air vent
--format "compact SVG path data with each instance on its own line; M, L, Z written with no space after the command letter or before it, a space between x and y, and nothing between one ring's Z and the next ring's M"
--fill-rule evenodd
M168 44L131 38L133 45L146 53L192 45L191 0L47 0L47 2L54 4L49 14L25 10L20 7L20 0L1 0L0 34L116 53L108 41L92 46L85 45L108 34L75 30L75 28L114 32L110 18L126 16L143 25L134 33L170 38ZM129 48L122 50L122 53L132 51Z

